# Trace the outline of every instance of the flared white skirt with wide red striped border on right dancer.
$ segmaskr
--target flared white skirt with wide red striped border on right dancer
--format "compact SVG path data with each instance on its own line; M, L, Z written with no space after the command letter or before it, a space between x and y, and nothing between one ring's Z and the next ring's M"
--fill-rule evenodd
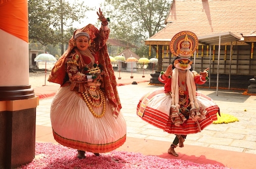
M194 121L188 118L182 124L174 124L173 115L170 115L172 97L169 93L165 93L164 87L146 93L141 97L137 105L137 115L149 124L171 134L198 133L211 125L213 121L218 120L217 112L220 110L213 99L202 93L196 92L196 99L199 106L205 110L205 117L202 120Z

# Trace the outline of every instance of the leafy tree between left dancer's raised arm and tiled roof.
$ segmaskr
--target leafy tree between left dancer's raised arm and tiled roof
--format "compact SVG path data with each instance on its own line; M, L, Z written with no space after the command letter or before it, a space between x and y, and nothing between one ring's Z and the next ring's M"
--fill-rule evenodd
M165 27L171 3L172 0L105 0L106 16L111 20L111 38L144 46L138 50L142 54L148 47L141 42Z

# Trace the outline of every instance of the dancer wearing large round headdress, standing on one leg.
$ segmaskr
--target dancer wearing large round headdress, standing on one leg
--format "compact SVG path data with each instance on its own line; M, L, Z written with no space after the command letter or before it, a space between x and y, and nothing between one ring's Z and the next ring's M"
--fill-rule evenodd
M161 72L159 81L165 84L146 93L137 105L137 115L142 120L175 134L168 153L178 156L174 148L183 147L187 134L198 133L217 120L219 106L210 97L196 91L196 84L204 84L208 70L190 71L189 60L198 45L197 36L190 31L177 33L170 42L176 56L173 65Z

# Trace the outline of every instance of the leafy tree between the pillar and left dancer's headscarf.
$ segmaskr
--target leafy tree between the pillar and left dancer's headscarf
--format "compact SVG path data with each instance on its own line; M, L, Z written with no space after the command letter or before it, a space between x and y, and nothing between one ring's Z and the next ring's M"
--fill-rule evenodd
M79 22L85 17L84 11L91 10L83 3L71 5L64 0L29 0L29 41L43 45L66 43L73 33L70 30L74 30L71 23Z

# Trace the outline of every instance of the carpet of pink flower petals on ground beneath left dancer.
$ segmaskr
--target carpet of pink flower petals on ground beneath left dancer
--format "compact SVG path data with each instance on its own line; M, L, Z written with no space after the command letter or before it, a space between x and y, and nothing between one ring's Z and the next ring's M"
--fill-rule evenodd
M86 158L78 159L77 151L59 144L36 143L35 156L32 162L22 165L17 169L144 169L144 168L167 168L167 169L230 169L220 164L199 164L181 159L166 159L153 155L143 155L141 153L111 151L100 153L95 156L91 152L86 152Z

